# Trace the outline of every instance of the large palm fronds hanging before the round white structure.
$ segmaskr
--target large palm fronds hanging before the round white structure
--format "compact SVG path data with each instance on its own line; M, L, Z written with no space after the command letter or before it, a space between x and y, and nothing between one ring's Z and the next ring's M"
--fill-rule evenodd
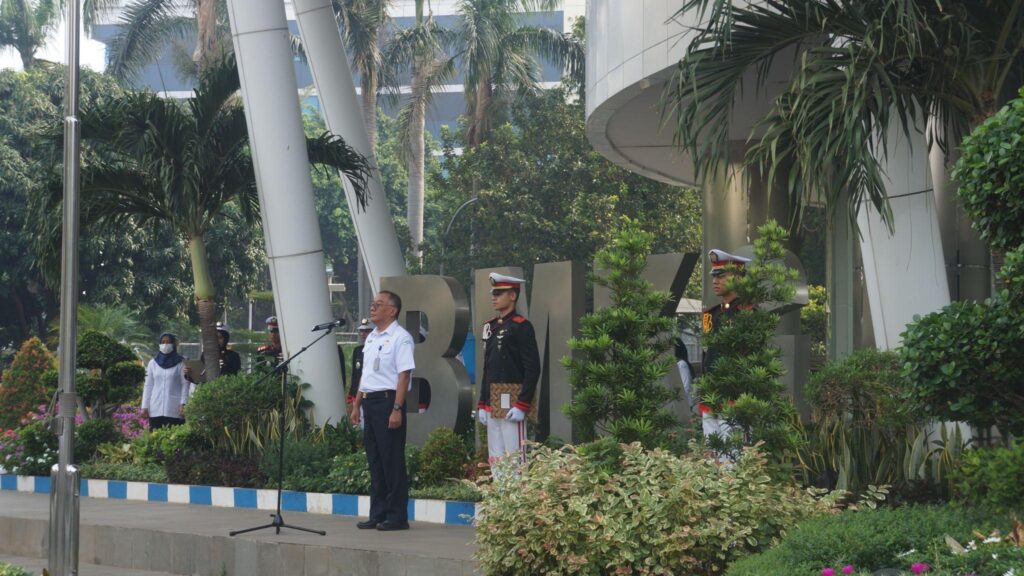
M790 172L791 206L823 198L856 217L870 202L892 225L878 158L887 129L930 124L929 146L954 147L1024 80L1024 0L686 0L707 26L664 97L698 177L728 158L741 89L763 89L776 59L788 84L752 129L744 164L768 182ZM742 86L754 74L756 86ZM826 169L822 169L825 167Z

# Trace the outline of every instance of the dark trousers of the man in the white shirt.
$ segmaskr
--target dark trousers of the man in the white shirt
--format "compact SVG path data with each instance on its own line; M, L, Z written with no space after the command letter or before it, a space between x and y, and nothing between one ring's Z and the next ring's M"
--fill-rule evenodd
M409 477L406 474L406 415L401 425L390 429L388 418L394 393L365 398L362 444L370 464L370 519L378 522L409 522Z

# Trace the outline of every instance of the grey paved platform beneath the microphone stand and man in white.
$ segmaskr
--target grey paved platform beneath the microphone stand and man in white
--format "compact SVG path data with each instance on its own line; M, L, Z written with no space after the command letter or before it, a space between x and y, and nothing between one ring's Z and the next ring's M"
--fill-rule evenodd
M418 576L475 571L471 527L414 522L409 531L378 532L356 529L357 519L352 517L299 512L284 517L286 523L324 530L327 536L288 529L278 535L269 528L229 537L231 530L267 524L269 515L82 498L79 558L83 567L135 570L102 572L111 576L224 572L228 576ZM0 560L45 558L48 522L48 495L0 492Z

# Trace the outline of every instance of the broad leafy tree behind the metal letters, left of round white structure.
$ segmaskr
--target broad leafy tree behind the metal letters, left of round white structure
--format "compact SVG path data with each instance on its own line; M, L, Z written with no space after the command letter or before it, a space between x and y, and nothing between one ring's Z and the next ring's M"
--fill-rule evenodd
M443 261L445 274L468 285L473 269L517 263L529 276L537 262L591 262L623 215L653 235L654 253L700 247L699 194L632 173L595 152L584 102L567 89L519 99L511 122L495 127L485 142L456 154L460 145L454 135L444 140L444 170L430 187L428 207L438 212L425 254L431 272ZM482 186L471 208L486 234L470 254L468 214L444 233L458 207L474 197L474 182Z

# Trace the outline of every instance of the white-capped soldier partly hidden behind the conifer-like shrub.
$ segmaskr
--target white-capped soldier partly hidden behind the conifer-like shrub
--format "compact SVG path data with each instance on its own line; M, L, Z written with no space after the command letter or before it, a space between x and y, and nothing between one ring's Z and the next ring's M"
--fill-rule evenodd
M751 310L750 305L736 302L736 293L727 287L730 279L743 274L743 266L751 259L719 249L708 252L708 259L711 260L712 290L715 291L716 296L722 298L722 301L705 311L702 323L705 334L717 332L722 322L732 318L737 312ZM708 346L701 363L705 374L711 373L714 369L715 360L715 347ZM700 427L703 429L705 438L717 435L724 439L729 436L729 424L715 416L711 406L700 403L698 409L700 410Z

